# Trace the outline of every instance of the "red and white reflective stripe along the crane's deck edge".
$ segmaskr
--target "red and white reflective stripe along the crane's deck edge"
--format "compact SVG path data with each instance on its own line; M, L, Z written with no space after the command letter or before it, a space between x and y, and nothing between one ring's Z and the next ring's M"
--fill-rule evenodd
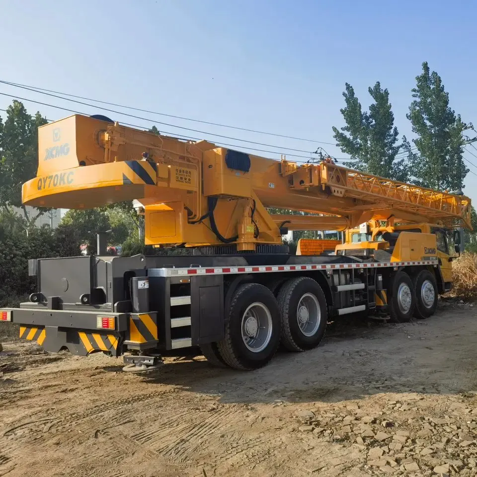
M437 265L437 260L421 260L415 262L371 262L371 263L311 263L307 265L266 265L246 267L193 267L193 268L160 268L157 275L175 277L178 275L227 275L239 273L272 273L296 272L302 270L335 270L345 268L389 268L409 265Z

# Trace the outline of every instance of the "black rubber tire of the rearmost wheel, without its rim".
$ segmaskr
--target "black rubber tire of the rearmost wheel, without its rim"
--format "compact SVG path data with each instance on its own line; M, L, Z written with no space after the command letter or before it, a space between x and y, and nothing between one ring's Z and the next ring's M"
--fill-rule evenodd
M254 302L265 305L271 315L272 332L268 345L260 352L250 351L242 340L241 322L245 310ZM253 370L265 366L280 343L280 310L273 293L258 283L244 283L235 291L225 326L225 338L217 343L222 359L230 367Z

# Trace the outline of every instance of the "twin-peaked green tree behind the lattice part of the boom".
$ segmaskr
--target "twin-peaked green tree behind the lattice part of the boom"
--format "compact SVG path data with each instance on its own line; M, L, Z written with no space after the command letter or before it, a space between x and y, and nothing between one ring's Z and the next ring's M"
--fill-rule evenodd
M368 92L374 102L368 111L362 111L353 87L346 83L343 92L346 106L340 109L345 126L333 127L336 145L353 161L346 166L395 180L407 180L408 171L404 161L396 156L401 146L397 145L398 131L394 126L394 114L389 102L389 91L379 81Z

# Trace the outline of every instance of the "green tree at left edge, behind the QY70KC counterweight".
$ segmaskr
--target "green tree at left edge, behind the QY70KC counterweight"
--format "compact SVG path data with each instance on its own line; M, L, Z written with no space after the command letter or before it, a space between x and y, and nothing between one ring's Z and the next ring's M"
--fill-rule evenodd
M0 120L0 207L15 217L27 234L38 217L48 210L38 208L37 213L29 217L21 203L21 186L35 177L38 168L38 127L46 123L39 112L29 115L16 100L8 106L5 122ZM13 207L23 210L21 220Z

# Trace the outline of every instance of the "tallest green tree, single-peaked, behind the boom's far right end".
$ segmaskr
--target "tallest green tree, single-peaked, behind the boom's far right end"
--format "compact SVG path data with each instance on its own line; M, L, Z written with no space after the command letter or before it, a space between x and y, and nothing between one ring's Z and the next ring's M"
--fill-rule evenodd
M412 141L415 148L404 138L404 150L415 182L433 189L462 192L469 172L462 158L462 131L466 125L449 107L449 93L441 77L430 72L427 62L416 77L412 97L406 116L417 138Z

